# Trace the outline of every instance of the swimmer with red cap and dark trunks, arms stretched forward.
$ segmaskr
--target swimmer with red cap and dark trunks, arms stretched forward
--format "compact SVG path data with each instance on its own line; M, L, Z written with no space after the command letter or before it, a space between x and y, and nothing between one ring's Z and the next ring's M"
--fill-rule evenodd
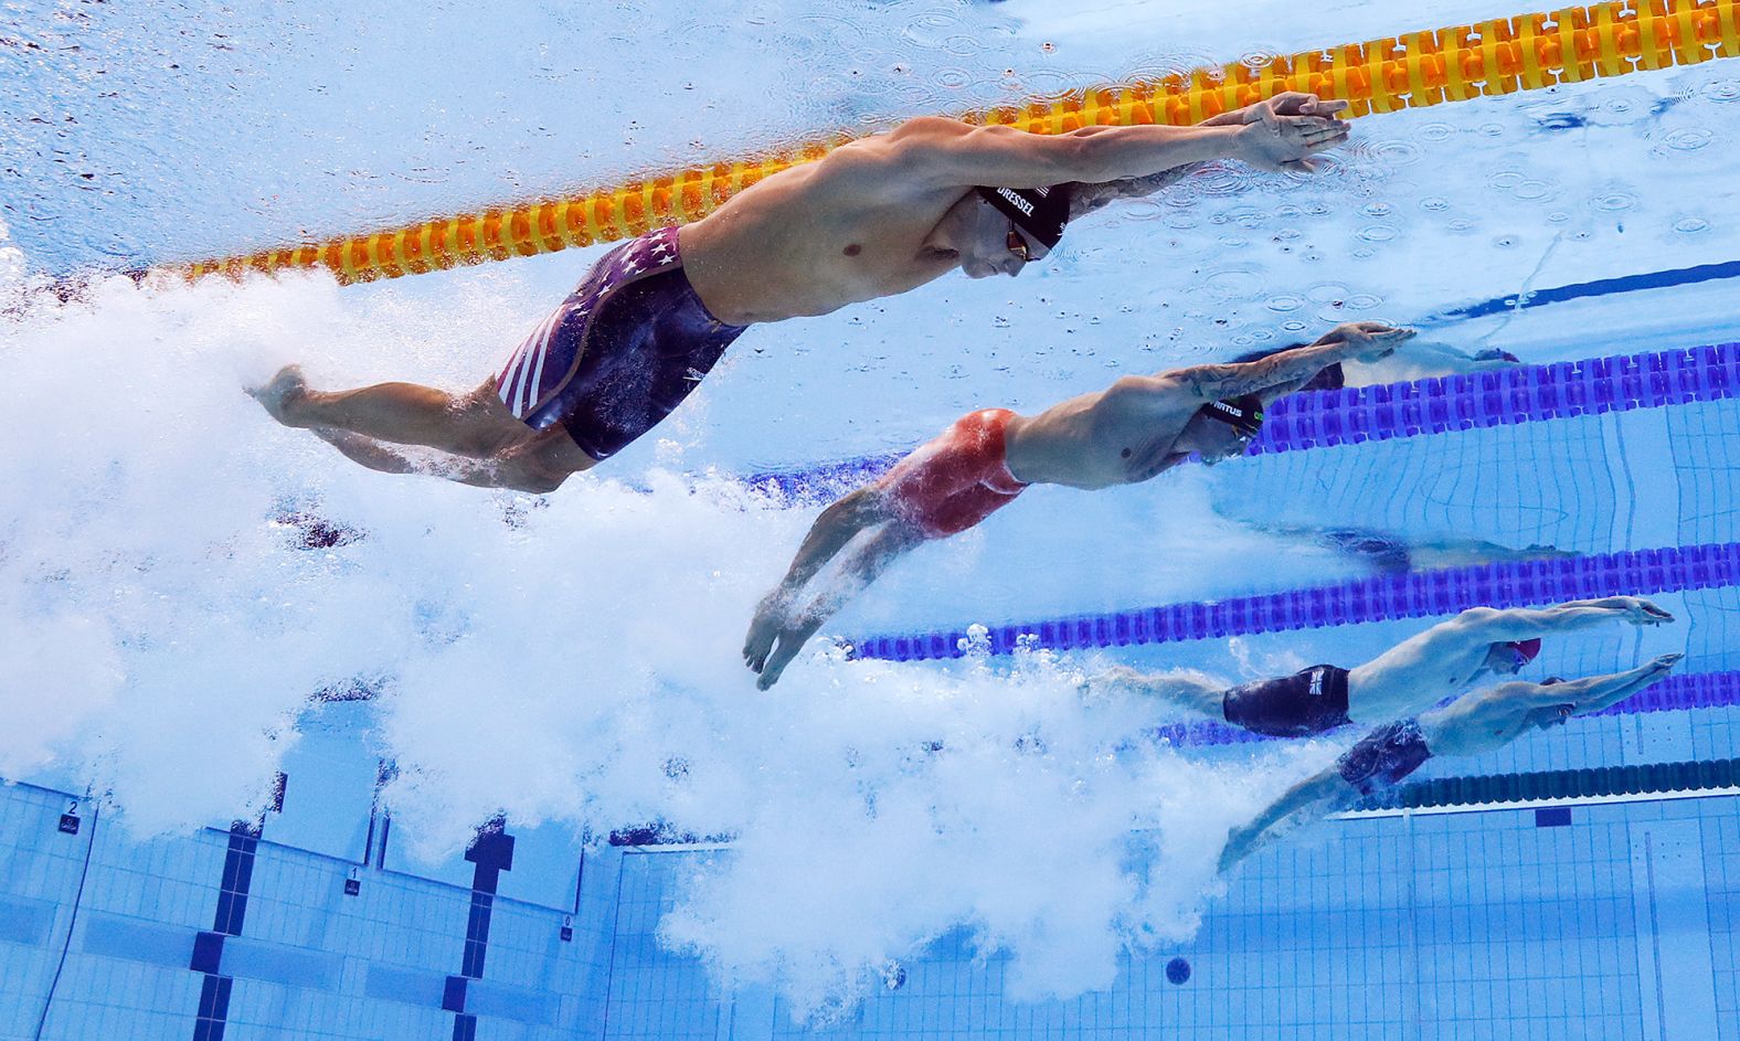
M1674 616L1637 597L1573 601L1556 608L1470 608L1364 665L1314 665L1293 675L1223 688L1192 674L1126 667L1091 681L1169 702L1275 738L1302 738L1348 722L1376 726L1416 715L1486 674L1516 675L1540 655L1543 635L1611 621L1665 625Z

